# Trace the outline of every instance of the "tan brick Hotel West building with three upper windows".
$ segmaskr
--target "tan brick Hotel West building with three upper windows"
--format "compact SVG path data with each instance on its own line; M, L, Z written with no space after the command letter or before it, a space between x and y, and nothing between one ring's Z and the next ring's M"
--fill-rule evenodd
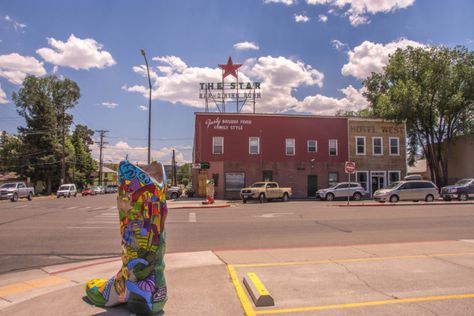
M355 181L372 195L407 173L406 127L381 119L350 118L349 160Z

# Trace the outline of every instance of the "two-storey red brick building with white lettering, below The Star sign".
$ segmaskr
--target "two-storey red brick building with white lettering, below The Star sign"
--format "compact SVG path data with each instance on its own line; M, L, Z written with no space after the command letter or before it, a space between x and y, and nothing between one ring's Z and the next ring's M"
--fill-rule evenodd
M196 113L193 183L202 196L213 178L218 198L238 198L240 188L262 180L314 196L347 179L348 148L343 117Z

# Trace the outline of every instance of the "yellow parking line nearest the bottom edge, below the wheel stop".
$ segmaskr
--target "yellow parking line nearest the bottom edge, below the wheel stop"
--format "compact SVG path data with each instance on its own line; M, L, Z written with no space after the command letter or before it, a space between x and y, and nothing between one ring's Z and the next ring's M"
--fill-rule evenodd
M396 300L394 299L394 300L386 300L386 301L369 301L369 302L360 302L360 303L308 306L308 307L300 307L300 308L285 308L285 309L274 309L274 310L269 309L269 310L255 311L255 314L256 315L270 315L270 314L283 314L283 313L314 312L314 311L323 311L323 310L331 310L331 309L345 309L345 308L354 308L354 307L368 307L368 306L429 302L429 301L444 301L444 300L466 299L466 298L474 298L474 294L415 297L415 298L403 298L403 299L396 299Z

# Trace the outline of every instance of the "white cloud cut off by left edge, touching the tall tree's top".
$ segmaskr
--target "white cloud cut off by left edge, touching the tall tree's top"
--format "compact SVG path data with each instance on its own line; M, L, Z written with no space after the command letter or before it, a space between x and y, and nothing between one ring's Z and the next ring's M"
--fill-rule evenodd
M43 76L46 70L43 63L30 56L17 53L0 55L0 77L13 84L21 84L27 75Z

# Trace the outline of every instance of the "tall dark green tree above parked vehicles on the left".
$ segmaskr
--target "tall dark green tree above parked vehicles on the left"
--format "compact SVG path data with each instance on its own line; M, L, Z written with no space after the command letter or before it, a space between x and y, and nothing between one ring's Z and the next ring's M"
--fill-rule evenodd
M45 181L47 194L60 184L61 173L65 173L61 162L71 156L67 151L72 147L66 144L66 138L73 117L67 110L76 105L79 96L79 86L74 81L56 76L27 76L20 90L12 95L26 122L26 127L18 128L25 153L20 174L34 183ZM26 155L28 152L37 154Z

